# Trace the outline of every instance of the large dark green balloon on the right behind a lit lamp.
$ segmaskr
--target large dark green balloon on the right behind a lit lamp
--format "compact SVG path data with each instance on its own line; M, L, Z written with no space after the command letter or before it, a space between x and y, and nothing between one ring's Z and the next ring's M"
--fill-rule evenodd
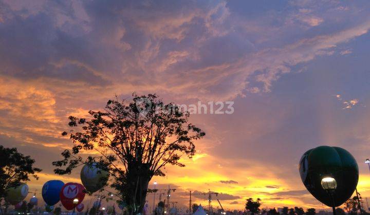
M307 190L320 202L337 207L347 201L356 189L359 170L355 158L340 147L319 146L303 154L299 171ZM334 178L337 187L325 190L323 178Z

